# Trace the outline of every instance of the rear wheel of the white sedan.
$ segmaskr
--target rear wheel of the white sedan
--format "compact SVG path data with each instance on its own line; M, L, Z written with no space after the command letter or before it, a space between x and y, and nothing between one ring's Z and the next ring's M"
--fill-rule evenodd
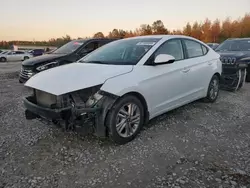
M219 85L220 85L219 77L217 75L213 75L208 86L207 96L204 98L205 102L213 103L217 100L220 91Z

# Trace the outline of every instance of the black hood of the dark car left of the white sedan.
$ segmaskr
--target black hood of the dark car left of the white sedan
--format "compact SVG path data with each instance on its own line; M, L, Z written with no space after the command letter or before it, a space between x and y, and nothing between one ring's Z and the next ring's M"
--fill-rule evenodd
M22 65L24 66L32 66L35 65L37 63L41 63L41 62L46 62L46 61L52 61L55 60L57 58L66 56L67 54L44 54L41 56L36 56L33 57L31 59L27 59L25 61L23 61Z

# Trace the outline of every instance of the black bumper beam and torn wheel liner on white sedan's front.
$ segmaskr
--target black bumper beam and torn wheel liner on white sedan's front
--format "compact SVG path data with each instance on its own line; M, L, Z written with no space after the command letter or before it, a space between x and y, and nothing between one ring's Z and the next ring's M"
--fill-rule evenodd
M69 106L67 108L51 109L37 105L34 96L23 99L26 119L40 120L63 120L64 122L72 120L76 125L85 126L89 120L94 120L94 134L98 137L106 137L107 130L105 126L105 118L108 110L115 102L114 98L104 97L99 102L100 105L95 107L83 108L81 106ZM93 119L94 118L94 119Z

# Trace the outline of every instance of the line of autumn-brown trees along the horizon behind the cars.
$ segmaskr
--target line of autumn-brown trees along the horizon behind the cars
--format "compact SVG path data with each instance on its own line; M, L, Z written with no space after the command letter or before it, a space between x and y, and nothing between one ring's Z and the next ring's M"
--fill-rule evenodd
M223 21L216 19L214 21L205 19L203 22L187 23L182 30L170 31L161 20L156 20L151 25L142 24L134 31L125 31L123 29L113 29L104 35L101 31L95 33L95 38L128 38L141 35L152 34L178 34L187 35L202 40L203 42L220 43L227 38L233 37L250 37L250 13L237 19L231 20L226 18ZM86 37L90 38L90 37ZM81 39L80 37L78 39ZM50 39L48 41L0 41L0 48L10 48L11 45L36 45L36 46L62 46L63 44L73 40L69 35Z

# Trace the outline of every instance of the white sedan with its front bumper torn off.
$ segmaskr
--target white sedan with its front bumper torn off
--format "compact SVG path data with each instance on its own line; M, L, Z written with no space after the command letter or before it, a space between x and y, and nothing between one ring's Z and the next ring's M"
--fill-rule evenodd
M214 102L219 57L186 36L117 40L28 80L33 95L24 99L26 118L45 118L65 129L92 121L96 135L125 144L158 115L202 98Z

